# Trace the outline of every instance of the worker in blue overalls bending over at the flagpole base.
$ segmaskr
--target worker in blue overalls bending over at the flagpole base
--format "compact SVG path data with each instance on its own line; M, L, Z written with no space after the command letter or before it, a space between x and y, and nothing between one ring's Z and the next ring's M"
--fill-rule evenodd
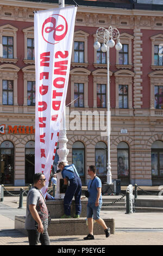
M77 169L73 163L66 166L65 162L60 162L58 167L61 170L64 184L67 185L69 181L69 186L67 187L64 197L65 214L61 216L61 218L71 218L71 202L73 197L76 204L76 215L74 218L79 218L82 211L82 204L80 199L82 194L82 182L80 180Z

